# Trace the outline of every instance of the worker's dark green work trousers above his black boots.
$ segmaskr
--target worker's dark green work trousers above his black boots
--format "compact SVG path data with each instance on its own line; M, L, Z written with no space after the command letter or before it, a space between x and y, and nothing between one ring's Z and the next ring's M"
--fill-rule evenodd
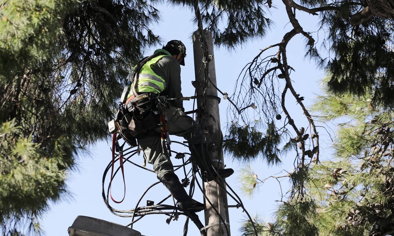
M194 143L203 143L201 128L190 116L176 107L168 108L166 111L169 134L186 139L189 148L192 148ZM147 162L153 164L154 171L161 179L169 173L174 173L174 167L167 153L162 152L160 129L158 131L153 134L145 134L138 139L138 143L143 149Z

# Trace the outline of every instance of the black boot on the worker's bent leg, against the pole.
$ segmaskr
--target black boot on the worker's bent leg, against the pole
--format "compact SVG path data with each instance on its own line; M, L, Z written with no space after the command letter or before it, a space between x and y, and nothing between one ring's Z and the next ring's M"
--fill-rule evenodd
M206 143L203 144L203 147L204 154L202 154L201 143L194 144L192 148L193 150L191 150L191 157L200 168L203 181L209 182L214 180L214 178L217 177L217 174L212 167L211 160L209 159L208 147ZM208 167L208 169L206 167ZM218 169L217 173L219 173L220 177L227 178L234 173L234 170L231 168Z

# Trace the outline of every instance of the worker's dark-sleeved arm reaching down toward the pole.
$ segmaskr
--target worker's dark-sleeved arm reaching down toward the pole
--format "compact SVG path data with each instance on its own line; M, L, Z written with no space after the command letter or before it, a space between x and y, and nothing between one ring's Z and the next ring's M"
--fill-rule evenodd
M157 63L158 67L164 74L166 89L163 93L169 98L183 97L181 92L181 81L180 81L180 65L177 60L172 57L165 56L160 59ZM171 100L170 103L177 107L183 108L183 102L180 100Z

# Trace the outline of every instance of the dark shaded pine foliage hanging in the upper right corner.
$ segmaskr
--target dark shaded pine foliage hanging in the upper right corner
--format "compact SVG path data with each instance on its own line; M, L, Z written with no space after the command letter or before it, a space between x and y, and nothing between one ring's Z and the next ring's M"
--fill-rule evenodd
M362 6L364 1L360 2ZM327 62L332 76L328 83L336 94L372 94L373 103L392 107L394 96L393 19L372 17L353 26L349 17L360 10L359 4L344 1L337 11L323 11L322 26L329 29L333 57Z

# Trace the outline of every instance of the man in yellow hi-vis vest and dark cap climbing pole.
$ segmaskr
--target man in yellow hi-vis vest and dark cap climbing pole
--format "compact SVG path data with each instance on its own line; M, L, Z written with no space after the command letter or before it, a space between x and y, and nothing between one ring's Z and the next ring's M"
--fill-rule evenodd
M180 65L185 65L186 47L179 40L171 40L162 49L157 49L154 54L157 56L149 59L140 67L136 79L135 89L130 89L126 108L134 106L142 114L152 105L152 99L156 96L167 98L180 98L181 80ZM134 84L131 85L132 87ZM137 94L135 94L137 93ZM156 99L157 100L157 99ZM168 132L185 138L189 143L191 158L204 173L204 181L216 178L207 152L206 144L203 142L201 127L188 115L184 113L181 100L167 100L165 107ZM144 120L142 119L142 123ZM150 122L150 121L149 121ZM156 125L156 124L153 124ZM147 162L153 164L153 169L158 179L178 200L178 207L189 211L200 211L204 209L204 204L199 203L186 193L167 154L163 151L160 137L160 128L153 128L147 132L136 135L138 143L144 152ZM204 150L203 150L204 147ZM232 169L217 170L222 178L229 177L234 173Z

